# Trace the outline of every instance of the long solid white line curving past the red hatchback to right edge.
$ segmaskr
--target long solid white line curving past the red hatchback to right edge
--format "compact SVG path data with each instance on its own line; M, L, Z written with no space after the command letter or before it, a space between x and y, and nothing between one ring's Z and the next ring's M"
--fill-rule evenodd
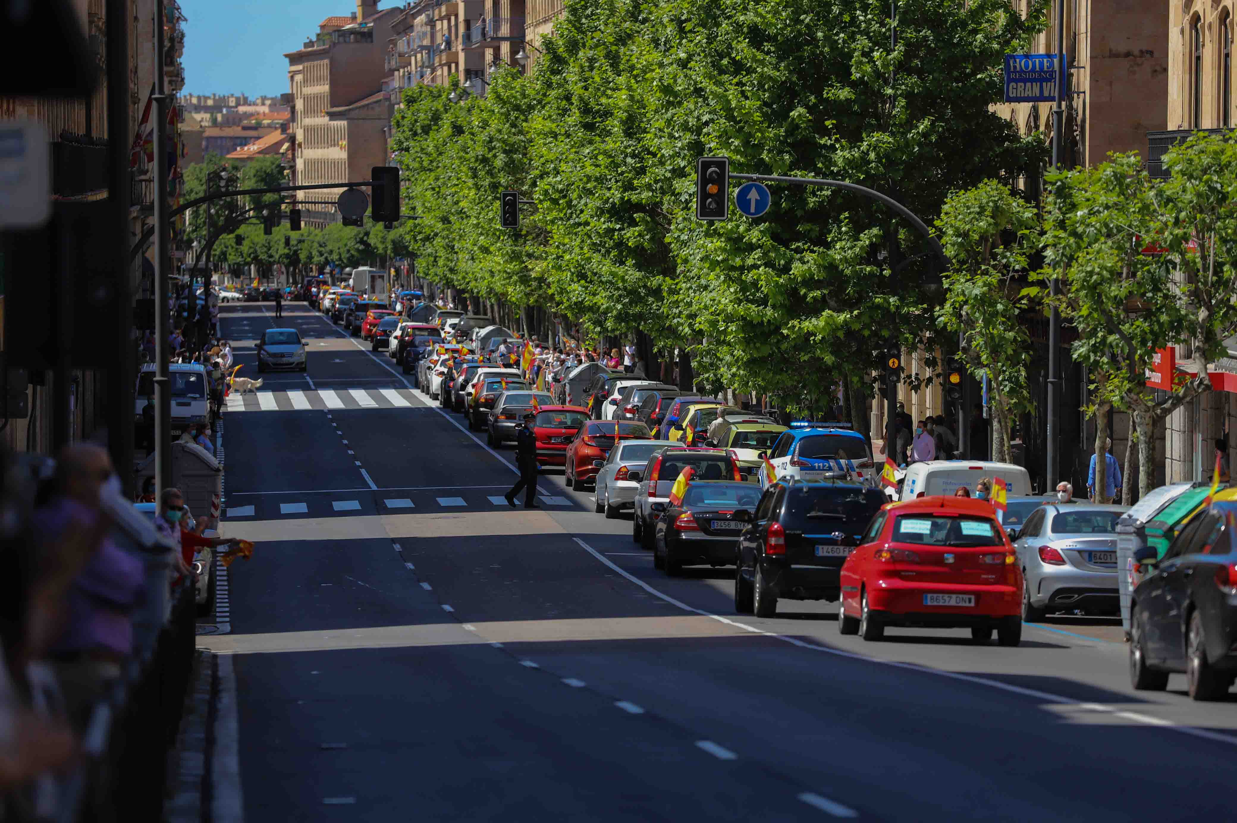
M764 635L766 637L773 637L774 640L781 640L782 642L790 644L792 646L798 646L799 648L809 648L811 651L819 651L819 652L824 652L826 655L834 655L836 657L847 657L850 660L858 660L858 661L863 661L866 663L878 663L881 666L889 666L892 668L903 668L903 670L909 670L909 671L913 671L913 672L922 672L924 674L935 674L938 677L945 677L945 678L952 679L952 681L960 681L960 682L965 682L965 683L975 683L976 686L987 686L990 688L999 689L1002 692L1009 692L1011 694L1019 694L1022 697L1029 697L1029 698L1033 698L1033 699L1037 699L1037 700L1043 700L1045 703L1058 703L1058 704L1061 704L1061 705L1076 705L1079 708L1086 708L1086 709L1090 709L1092 712L1102 712L1102 713L1106 713L1106 714L1112 714L1113 717L1121 717L1121 718L1124 718L1124 719L1131 720L1133 723L1142 723L1142 724L1145 724L1145 725L1166 728L1166 729L1171 729L1173 731L1180 731L1181 734L1188 734L1188 735L1194 736L1194 738L1201 738L1204 740L1215 740L1216 743L1225 743L1225 744L1228 744L1231 746L1237 746L1237 736L1228 735L1228 734L1220 734L1217 731L1210 731L1207 729L1200 729L1197 726L1178 725L1178 724L1171 723L1169 720L1162 720L1159 718L1148 717L1145 714L1137 714L1137 713L1133 713L1133 712L1121 712L1118 709L1115 709L1111 705L1102 705L1100 703L1085 703L1082 700L1075 700L1074 698L1070 698L1070 697L1063 697L1060 694L1051 694L1050 692L1040 692L1039 689L1024 688L1022 686L1013 686L1012 683L1003 683L1001 681L996 681L996 679L992 679L990 677L977 677L975 674L962 674L962 673L959 673L959 672L946 672L946 671L940 670L940 668L930 668L928 666L919 666L917 663L905 663L905 662L897 661L897 660L881 660L880 657L868 657L867 655L860 655L860 653L856 653L856 652L842 651L841 648L830 648L828 646L820 646L820 645L816 645L816 644L813 644L813 642L808 642L805 640L799 640L798 637L789 637L787 635L779 635L776 631L766 631L763 629L757 629L756 626L748 626L745 623L738 623L737 620L731 620L730 618L724 618L720 614L714 614L711 611L705 611L704 609L696 609L695 606L689 606L688 604L683 603L682 600L677 600L675 598L672 598L670 595L664 594L663 592L659 592L659 590L654 589L653 587L651 587L648 583L644 583L643 580L641 580L635 574L630 574L626 571L618 568L618 566L616 566L615 563L607 561L605 557L601 556L600 552L597 552L597 549L593 548L591 546L589 546L588 543L585 543L579 537L573 537L571 540L574 540L576 543L579 543L581 548L584 548L586 552L589 552L590 554L593 554L595 558L597 558L599 561L601 561L602 563L605 563L607 567L610 567L610 569L612 569L612 571L617 572L618 574L623 575L625 578L627 578L628 580L631 580L632 583L635 583L636 585L638 585L640 588L644 589L646 592L648 592L653 597L661 598L662 600L669 603L670 605L678 606L679 609L683 609L684 611L690 611L693 614L699 614L699 615L705 616L705 618L711 618L713 620L716 620L719 623L724 623L727 626L735 626L736 629L742 629L742 630L750 631L752 634Z

